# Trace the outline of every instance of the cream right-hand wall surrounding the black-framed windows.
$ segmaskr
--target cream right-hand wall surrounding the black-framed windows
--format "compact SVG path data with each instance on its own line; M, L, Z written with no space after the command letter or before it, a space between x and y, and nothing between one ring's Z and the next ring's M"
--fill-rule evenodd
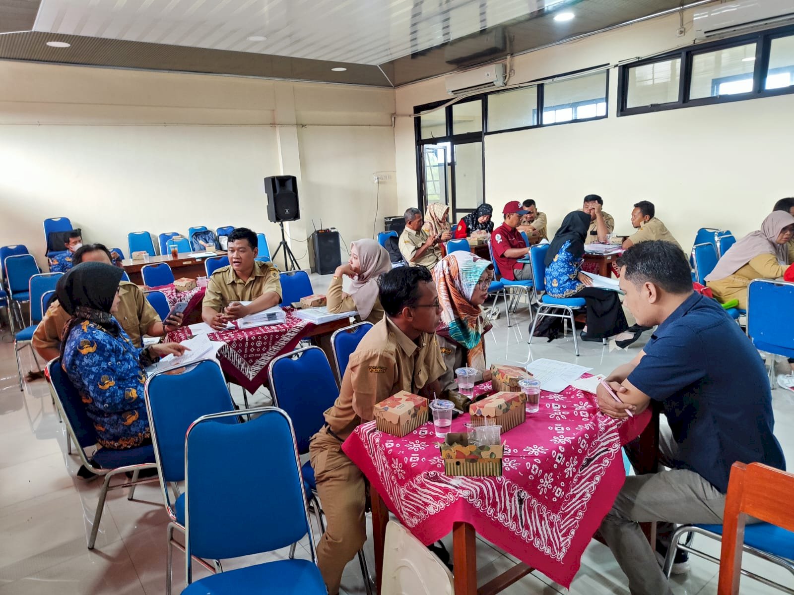
M673 15L518 56L511 83L690 44L691 12L684 23L684 37L676 36L679 21ZM730 228L742 236L758 228L779 198L794 194L794 94L616 117L617 85L613 68L606 120L486 137L486 201L495 213L507 201L534 198L554 232L562 217L593 193L604 198L617 230L628 232L632 205L649 200L688 249L697 228ZM414 106L445 98L441 78L396 90L399 209L417 202L408 114Z

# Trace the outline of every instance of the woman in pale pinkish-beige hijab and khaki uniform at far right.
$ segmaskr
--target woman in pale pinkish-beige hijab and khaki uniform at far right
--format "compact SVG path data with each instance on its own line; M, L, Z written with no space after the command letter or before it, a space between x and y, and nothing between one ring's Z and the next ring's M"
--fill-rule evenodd
M738 300L747 309L747 286L757 278L782 277L788 263L788 241L794 235L794 217L785 211L770 213L761 229L738 240L706 275L706 285L723 304Z

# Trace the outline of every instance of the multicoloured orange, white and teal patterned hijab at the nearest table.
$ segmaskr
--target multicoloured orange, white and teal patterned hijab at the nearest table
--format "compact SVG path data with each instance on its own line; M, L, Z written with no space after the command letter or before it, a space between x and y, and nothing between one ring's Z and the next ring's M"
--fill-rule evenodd
M466 362L477 370L485 369L483 333L488 330L488 321L471 299L480 277L489 269L493 270L490 260L464 251L446 255L433 268L441 304L441 322L436 332L466 348Z

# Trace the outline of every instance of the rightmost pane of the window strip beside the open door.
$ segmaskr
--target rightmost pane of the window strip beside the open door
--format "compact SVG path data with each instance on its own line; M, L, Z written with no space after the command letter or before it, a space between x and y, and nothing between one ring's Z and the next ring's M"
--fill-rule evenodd
M607 73L580 76L543 86L543 124L554 124L607 114ZM599 104L602 107L599 108ZM595 114L592 108L595 106ZM584 108L584 109L583 109Z

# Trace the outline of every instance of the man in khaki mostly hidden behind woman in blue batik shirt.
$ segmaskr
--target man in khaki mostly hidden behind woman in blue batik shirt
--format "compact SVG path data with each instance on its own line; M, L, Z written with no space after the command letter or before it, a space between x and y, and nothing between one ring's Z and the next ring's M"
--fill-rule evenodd
M110 251L102 244L87 244L75 251L73 266L79 263L98 262L110 264ZM164 324L144 293L134 283L122 281L118 285L118 312L114 317L129 335L135 347L143 346L143 336L163 336L182 324L182 314L174 314ZM60 355L60 340L71 317L58 300L53 300L44 317L33 332L33 348L46 360Z

